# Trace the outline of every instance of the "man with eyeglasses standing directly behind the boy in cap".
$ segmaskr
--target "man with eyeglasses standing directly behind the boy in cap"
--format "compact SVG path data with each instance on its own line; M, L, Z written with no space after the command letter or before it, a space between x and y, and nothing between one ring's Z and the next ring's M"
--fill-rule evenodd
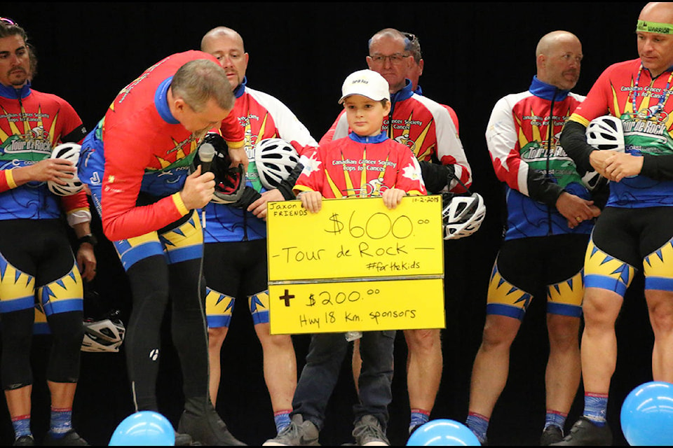
M472 183L470 165L449 112L432 99L413 92L408 78L412 42L397 29L386 28L369 39L367 66L386 78L392 107L381 130L407 145L421 162L428 193L464 193ZM348 122L341 112L320 144L346 137ZM409 348L407 389L411 419L409 433L430 419L442 379L440 329L405 330ZM354 350L358 352L357 349ZM359 361L355 359L356 374Z

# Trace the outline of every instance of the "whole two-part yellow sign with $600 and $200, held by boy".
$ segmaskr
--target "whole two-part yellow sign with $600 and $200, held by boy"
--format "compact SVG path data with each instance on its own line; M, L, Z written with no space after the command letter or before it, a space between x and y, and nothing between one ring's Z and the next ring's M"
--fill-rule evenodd
M271 334L444 328L442 198L268 202Z

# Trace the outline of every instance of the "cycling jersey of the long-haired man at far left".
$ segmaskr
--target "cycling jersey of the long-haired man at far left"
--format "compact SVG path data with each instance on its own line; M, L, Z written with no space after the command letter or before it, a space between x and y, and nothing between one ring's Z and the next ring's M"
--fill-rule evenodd
M20 89L0 84L0 111L0 220L59 218L62 207L71 225L90 221L86 193L58 197L46 182L17 186L12 176L14 168L49 158L62 141L81 142L86 130L72 106L29 83Z

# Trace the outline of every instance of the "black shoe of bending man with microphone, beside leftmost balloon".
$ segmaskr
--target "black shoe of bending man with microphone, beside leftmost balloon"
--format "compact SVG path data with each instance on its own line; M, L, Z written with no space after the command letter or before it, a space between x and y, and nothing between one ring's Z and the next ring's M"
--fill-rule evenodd
M212 405L207 405L205 409L193 408L189 401L185 402L185 409L177 424L178 433L191 435L194 442L200 442L204 445L224 447L224 446L245 446L245 443L238 440L226 428L226 424L215 411Z

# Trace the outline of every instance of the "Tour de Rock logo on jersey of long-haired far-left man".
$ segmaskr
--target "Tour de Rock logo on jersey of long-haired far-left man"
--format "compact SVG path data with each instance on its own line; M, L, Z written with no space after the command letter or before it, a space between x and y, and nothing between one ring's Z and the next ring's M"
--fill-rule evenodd
M48 157L55 141L58 113L55 113L51 127L45 130L45 118L41 108L36 113L27 113L23 107L21 113L8 113L0 107L2 115L7 118L8 129L0 126L0 160L31 160L39 162ZM60 136L58 136L60 137Z

